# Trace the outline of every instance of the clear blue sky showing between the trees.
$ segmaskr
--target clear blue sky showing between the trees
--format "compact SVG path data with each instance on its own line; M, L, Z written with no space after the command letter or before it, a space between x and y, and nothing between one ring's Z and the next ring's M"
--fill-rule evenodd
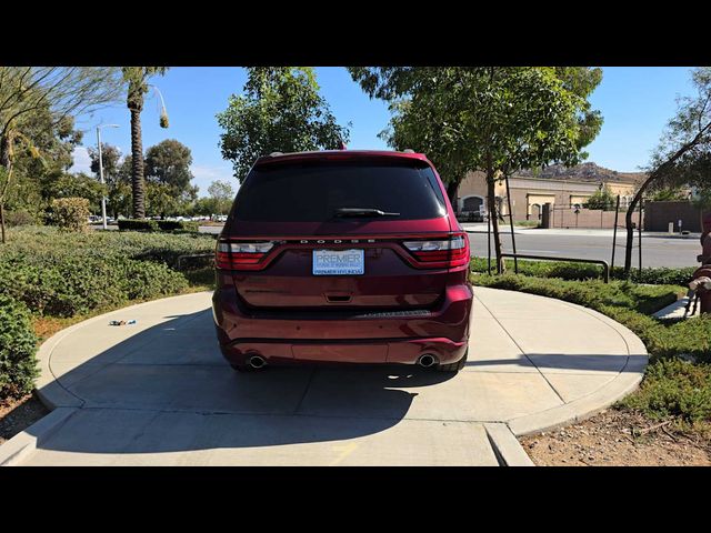
M387 105L370 100L354 83L344 68L317 68L321 93L339 123L352 122L351 149L387 149L378 133L390 118ZM159 127L159 100L151 93L141 121L143 149L164 139L178 139L192 150L193 183L200 195L207 194L213 180L228 180L234 185L232 167L223 161L218 148L220 128L214 115L227 108L230 94L239 93L246 72L236 67L176 67L153 82L166 100L170 128ZM675 97L691 94L689 69L677 67L613 67L603 69L603 79L591 97L604 124L598 138L588 147L589 161L618 171L635 171L647 163L667 120L674 113ZM106 108L82 117L77 127L86 130L83 147L96 145L94 127L116 123L118 129L104 128L102 141L130 151L130 120L124 105ZM86 148L74 152L72 171L88 171Z

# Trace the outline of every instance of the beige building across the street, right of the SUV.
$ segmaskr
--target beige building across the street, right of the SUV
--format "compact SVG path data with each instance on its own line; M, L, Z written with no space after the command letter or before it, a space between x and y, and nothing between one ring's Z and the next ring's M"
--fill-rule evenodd
M632 200L642 173L615 172L594 163L583 163L570 169L551 165L539 172L520 172L509 178L511 210L513 220L538 220L543 204L554 209L574 209L593 195L600 188L608 187L612 194L620 195L620 205L627 207ZM497 202L502 214L508 214L505 182L497 182ZM462 218L472 213L487 212L487 180L483 172L470 172L461 182L457 207ZM473 217L475 220L478 217Z

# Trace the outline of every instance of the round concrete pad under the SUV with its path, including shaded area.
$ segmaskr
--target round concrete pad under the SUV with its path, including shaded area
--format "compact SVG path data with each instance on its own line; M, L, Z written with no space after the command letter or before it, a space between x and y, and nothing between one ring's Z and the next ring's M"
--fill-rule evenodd
M641 380L644 346L617 322L529 294L475 294L457 375L236 373L219 353L209 293L88 320L41 346L39 391L54 411L0 446L0 464L531 464L514 435L580 420Z

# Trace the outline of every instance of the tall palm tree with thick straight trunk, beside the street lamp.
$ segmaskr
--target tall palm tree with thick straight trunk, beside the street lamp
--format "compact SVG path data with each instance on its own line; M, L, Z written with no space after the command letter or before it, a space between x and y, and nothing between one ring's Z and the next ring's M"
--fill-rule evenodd
M143 190L143 141L141 140L141 111L143 97L148 92L148 79L163 76L168 67L123 67L123 81L128 84L127 105L131 112L131 184L133 188L133 218L146 218ZM164 124L164 125L163 125ZM161 115L161 127L168 121Z

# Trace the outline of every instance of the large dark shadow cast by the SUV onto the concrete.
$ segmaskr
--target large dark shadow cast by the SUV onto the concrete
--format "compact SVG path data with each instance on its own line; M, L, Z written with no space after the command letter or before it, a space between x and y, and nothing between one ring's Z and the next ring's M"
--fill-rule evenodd
M81 408L39 450L162 453L354 439L397 425L417 396L408 389L454 376L411 365L240 373L222 359L210 309L162 319L68 371L62 361L77 356L69 342L81 343L58 345L50 368ZM132 328L106 322L88 326L92 339Z

